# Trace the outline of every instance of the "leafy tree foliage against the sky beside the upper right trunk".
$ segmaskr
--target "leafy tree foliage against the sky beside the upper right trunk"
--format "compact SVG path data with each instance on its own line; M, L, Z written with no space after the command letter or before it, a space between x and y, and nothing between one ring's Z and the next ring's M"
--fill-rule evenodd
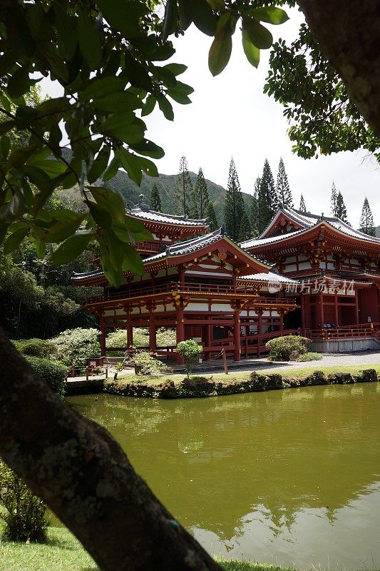
M307 24L273 45L264 91L284 105L293 151L303 158L364 148L380 161L380 141L322 54Z

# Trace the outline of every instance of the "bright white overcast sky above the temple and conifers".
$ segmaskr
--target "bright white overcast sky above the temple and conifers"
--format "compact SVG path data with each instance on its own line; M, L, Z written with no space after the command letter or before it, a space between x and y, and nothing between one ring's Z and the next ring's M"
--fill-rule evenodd
M297 37L302 15L296 9L288 11L290 20L282 26L269 26L274 39L280 36L292 41ZM257 176L268 158L274 178L279 157L292 189L294 206L298 208L301 193L307 209L313 213L330 213L332 181L341 190L348 218L358 226L361 206L367 196L380 224L380 170L376 161L367 158L366 151L338 153L332 156L304 160L292 153L287 138L287 121L283 108L262 93L268 69L269 51L262 51L259 69L247 62L241 46L241 33L233 37L232 57L225 71L213 78L207 67L207 54L212 39L201 34L195 26L175 40L173 61L188 66L179 79L190 84L195 93L190 105L173 104L175 118L167 121L158 109L145 117L146 136L163 146L165 157L158 163L160 173L177 173L180 156L188 158L191 171L202 166L205 177L227 186L228 167L234 157L242 191L252 193ZM45 91L55 96L51 84ZM364 162L363 162L364 161Z

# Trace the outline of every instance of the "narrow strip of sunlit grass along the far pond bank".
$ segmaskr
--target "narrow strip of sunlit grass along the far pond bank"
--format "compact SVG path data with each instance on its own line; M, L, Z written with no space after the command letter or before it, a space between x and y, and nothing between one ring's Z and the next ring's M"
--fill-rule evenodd
M290 365L290 364L289 364ZM286 367L288 365L285 365ZM290 365L291 366L291 365ZM323 370L323 372L325 373L325 375L330 375L332 373L351 373L351 375L357 375L359 373L359 370L362 369L374 369L376 370L376 373L378 375L380 375L380 365L347 365L346 367L342 367L342 365L337 365L337 366L330 366L330 367L324 367L322 365L319 365L319 362L317 361L317 363L315 361L312 361L303 366L294 366L294 368L289 369L289 368L284 368L282 366L279 366L278 368L274 368L271 370L265 370L265 368L263 369L257 369L257 373L264 373L264 374L269 374L269 373L279 373L280 375L284 376L284 377L294 377L294 378L304 378L307 377L307 375L310 375L311 373L313 373L314 370ZM225 373L195 373L194 375L191 376L200 376L200 377L205 377L205 378L210 378L212 376L212 380L215 380L219 383L233 383L234 380L237 381L241 381L241 380L245 380L248 379L250 376L250 371L233 371L231 372L229 375L225 375ZM165 380L170 379L170 380L174 380L175 383L180 383L180 381L182 381L185 378L185 374L180 374L180 375L161 375L160 377L151 377L151 376L143 376L143 375L124 375L124 376L120 376L120 378L118 378L118 381L121 381L121 383L148 383L148 384L153 384L153 383L163 383Z

